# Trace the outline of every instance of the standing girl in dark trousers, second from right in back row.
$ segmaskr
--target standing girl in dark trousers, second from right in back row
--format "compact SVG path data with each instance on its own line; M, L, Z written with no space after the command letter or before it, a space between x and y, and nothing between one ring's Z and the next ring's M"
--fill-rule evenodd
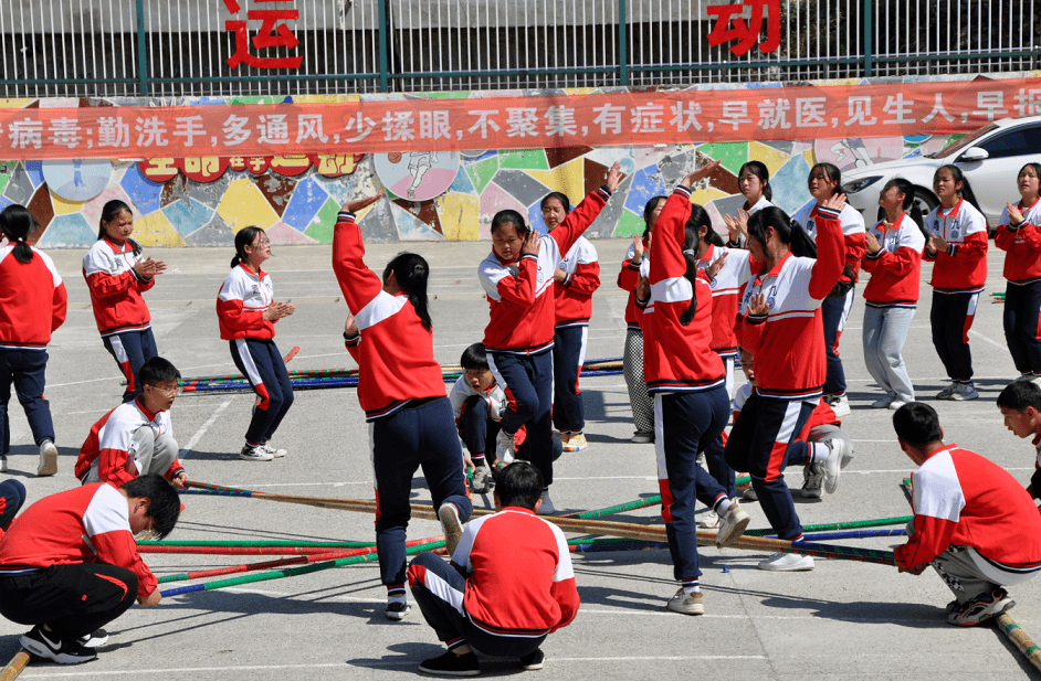
M950 386L937 400L976 400L969 329L987 281L987 219L961 196L965 175L957 166L942 166L933 175L939 205L925 216L929 240L924 257L933 265L933 345L947 370Z

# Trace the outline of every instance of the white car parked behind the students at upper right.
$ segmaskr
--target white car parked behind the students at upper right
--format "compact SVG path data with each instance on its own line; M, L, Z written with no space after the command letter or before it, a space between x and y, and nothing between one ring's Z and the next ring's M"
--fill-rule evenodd
M1005 204L1019 200L1016 175L1030 161L1041 162L1041 116L1002 118L937 153L843 172L842 190L864 222L874 224L879 192L893 178L904 178L915 185L915 201L924 216L939 203L933 193L933 174L940 166L954 164L965 173L971 196L993 230Z

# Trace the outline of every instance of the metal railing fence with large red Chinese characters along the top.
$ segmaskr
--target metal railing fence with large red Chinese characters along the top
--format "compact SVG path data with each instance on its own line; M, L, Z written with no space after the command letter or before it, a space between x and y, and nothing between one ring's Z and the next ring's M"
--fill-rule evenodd
M13 0L0 68L6 97L156 98L1019 72L1041 0Z

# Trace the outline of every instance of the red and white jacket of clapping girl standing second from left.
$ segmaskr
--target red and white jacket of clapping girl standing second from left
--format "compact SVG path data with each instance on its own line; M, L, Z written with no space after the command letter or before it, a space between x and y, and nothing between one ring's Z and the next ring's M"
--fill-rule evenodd
M156 285L156 278L141 279L134 272L143 257L134 255L129 241L117 246L107 236L94 242L83 256L83 278L91 291L94 321L102 337L140 331L151 324L141 294Z

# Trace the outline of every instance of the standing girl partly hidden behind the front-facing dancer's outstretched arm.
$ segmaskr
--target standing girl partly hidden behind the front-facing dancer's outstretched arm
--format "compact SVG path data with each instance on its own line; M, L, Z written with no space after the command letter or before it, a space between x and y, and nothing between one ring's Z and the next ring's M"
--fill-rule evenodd
M571 212L571 203L565 194L551 192L543 199L541 211L546 228L553 232ZM585 236L575 240L553 279L557 320L553 345L553 422L560 432L564 450L581 451L587 444L582 433L586 416L578 377L586 361L592 294L600 288L600 263L589 240Z

